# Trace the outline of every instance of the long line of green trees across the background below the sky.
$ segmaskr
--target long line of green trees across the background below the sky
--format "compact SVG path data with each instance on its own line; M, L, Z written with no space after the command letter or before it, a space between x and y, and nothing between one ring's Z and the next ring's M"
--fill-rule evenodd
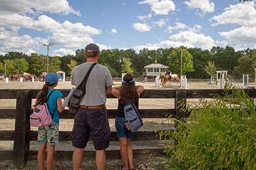
M201 48L158 48L149 50L144 48L136 52L133 49L102 50L98 64L109 68L112 77L121 77L121 73L132 73L138 77L145 71L144 67L158 64L169 67L174 74L181 71L181 49L182 49L182 71L187 78L209 78L208 70L226 70L229 75L240 77L241 74L249 74L255 77L256 50L235 51L233 47L212 47L211 50ZM49 56L49 72L64 71L67 76L72 74L73 67L86 62L84 49L78 49L75 55ZM211 68L211 69L209 69ZM24 72L41 75L47 71L47 56L44 54L31 53L30 56L22 52L8 52L0 55L0 73L21 74ZM213 72L211 73L213 74Z

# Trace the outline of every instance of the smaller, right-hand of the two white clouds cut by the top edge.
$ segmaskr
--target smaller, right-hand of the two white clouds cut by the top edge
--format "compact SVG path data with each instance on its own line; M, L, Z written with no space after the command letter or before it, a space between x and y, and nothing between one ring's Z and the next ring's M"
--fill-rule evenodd
M209 0L190 0L190 1L185 1L183 2L184 4L187 5L187 8L189 9L197 9L199 8L200 10L203 11L204 15L205 13L212 13L214 12L214 2L209 2Z

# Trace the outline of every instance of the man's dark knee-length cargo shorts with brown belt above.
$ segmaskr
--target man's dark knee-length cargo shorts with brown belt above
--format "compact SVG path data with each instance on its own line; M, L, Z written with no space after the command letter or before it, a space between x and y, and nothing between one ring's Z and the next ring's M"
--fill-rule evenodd
M109 147L110 127L109 113L106 108L88 109L79 107L72 131L72 145L75 148L85 148L92 132L95 150Z

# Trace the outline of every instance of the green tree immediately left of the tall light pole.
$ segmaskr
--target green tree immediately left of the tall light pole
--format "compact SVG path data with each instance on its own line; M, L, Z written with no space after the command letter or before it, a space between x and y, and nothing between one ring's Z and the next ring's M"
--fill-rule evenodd
M29 73L41 75L43 72L47 72L47 56L42 54L31 53L29 65Z

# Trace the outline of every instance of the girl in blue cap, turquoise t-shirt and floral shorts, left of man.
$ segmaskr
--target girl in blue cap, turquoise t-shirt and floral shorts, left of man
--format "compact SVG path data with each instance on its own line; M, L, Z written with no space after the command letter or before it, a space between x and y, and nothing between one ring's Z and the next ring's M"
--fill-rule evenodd
M48 73L45 76L45 84L42 90L39 92L34 106L37 106L40 102L45 102L48 95L58 85L58 76L55 73ZM52 170L53 154L55 151L55 145L59 142L59 113L61 113L65 106L62 106L61 101L62 94L60 91L55 90L46 102L47 108L52 116L53 123L49 126L41 126L38 128L38 165L40 170L44 168L44 152L47 149L47 170ZM48 144L48 146L47 146Z

